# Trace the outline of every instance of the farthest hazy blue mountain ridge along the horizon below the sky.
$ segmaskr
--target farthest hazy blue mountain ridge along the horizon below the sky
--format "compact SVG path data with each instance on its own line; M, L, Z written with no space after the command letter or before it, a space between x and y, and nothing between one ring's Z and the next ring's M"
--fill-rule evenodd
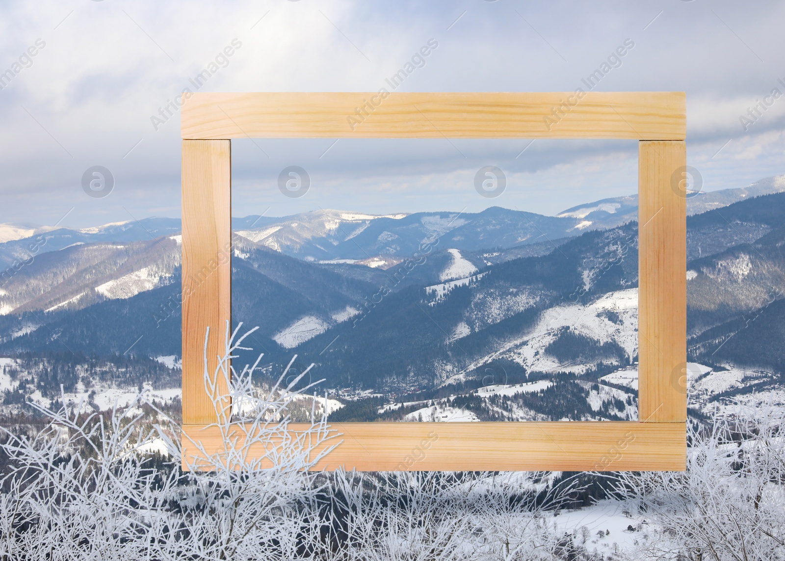
M783 190L785 175L761 179L740 189L699 192L688 199L688 214ZM384 215L324 210L283 217L253 214L232 218L232 229L248 240L299 259L363 261L379 256L396 256L400 260L412 255L422 240L434 237L466 251L512 248L575 237L588 229L608 229L636 220L637 195L631 195L583 203L556 216L499 207L478 213ZM76 244L155 240L176 236L180 231L179 218L155 217L84 229L0 224L0 268L18 268L37 255Z

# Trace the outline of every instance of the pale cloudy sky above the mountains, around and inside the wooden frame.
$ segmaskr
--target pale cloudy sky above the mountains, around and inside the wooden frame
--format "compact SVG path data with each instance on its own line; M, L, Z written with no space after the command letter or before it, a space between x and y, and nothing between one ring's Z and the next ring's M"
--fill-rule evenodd
M629 40L595 90L686 91L703 189L785 173L785 95L766 97L785 94L782 3L5 0L2 12L0 222L179 216L179 116L152 117L232 44L200 91L375 91L429 40L399 90L568 91ZM739 117L765 99L745 130ZM311 179L300 198L277 186L290 165ZM495 199L473 185L487 165L507 178ZM82 189L93 166L111 171L108 196ZM244 140L232 166L236 216L555 214L637 189L634 141Z

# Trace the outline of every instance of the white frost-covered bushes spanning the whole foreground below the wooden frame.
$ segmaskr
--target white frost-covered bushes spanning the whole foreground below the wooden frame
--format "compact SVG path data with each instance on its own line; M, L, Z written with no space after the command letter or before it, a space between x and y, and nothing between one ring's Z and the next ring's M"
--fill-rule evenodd
M557 524L557 509L586 494L586 475L309 471L340 436L312 399L309 430L281 446L308 371L280 387L287 369L260 391L255 365L232 369L244 337L227 329L225 355L205 372L217 430L246 437L197 450L209 469L181 471L187 437L161 411L144 420L144 394L104 414L63 399L42 409L49 424L37 434L6 431L2 560L785 558L782 409L740 406L692 426L686 473L615 475L648 540L597 553L582 522ZM151 453L162 445L168 454ZM249 460L250 446L265 457Z

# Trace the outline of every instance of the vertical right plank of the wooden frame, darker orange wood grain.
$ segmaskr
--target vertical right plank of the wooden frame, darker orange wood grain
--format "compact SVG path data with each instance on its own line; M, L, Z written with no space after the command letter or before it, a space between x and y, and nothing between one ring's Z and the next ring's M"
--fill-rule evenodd
M687 419L687 199L684 141L643 141L638 161L638 414Z

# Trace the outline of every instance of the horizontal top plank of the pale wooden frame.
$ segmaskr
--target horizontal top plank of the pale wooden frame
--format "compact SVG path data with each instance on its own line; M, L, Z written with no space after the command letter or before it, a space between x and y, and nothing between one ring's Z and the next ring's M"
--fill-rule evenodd
M686 134L684 92L196 93L183 99L181 134L191 139L683 140Z

